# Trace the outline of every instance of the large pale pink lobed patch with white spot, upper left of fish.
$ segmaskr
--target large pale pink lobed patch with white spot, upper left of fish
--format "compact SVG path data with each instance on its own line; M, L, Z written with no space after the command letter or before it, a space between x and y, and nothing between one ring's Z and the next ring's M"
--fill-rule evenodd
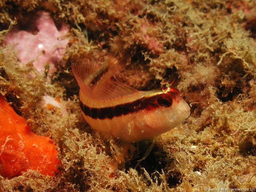
M68 39L62 39L68 32L68 26L63 24L58 30L49 13L44 11L37 12L36 16L38 18L35 20L35 26L31 27L36 27L36 34L32 34L31 30L19 30L18 27L14 27L4 42L14 46L22 66L33 61L36 70L42 72L45 62L48 61L51 64L51 73L63 57L68 44ZM33 23L31 18L28 20L30 24Z

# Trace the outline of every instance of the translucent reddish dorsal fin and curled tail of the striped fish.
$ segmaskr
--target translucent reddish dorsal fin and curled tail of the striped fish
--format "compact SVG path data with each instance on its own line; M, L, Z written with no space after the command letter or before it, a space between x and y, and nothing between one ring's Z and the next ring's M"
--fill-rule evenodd
M103 63L88 58L72 60L72 71L84 98L88 98L87 104L95 100L114 100L139 92L113 78L124 67L127 62L126 57L128 54L117 58L108 54Z

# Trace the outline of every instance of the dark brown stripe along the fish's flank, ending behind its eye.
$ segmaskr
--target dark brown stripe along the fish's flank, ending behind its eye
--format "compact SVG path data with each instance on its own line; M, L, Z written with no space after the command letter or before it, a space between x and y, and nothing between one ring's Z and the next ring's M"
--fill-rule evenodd
M152 110L153 108L158 108L159 105L156 102L157 97L158 95L154 95L147 98L141 98L129 103L104 108L91 108L83 104L82 101L80 101L80 108L86 116L90 116L93 119L112 119L113 117L135 113L143 109Z

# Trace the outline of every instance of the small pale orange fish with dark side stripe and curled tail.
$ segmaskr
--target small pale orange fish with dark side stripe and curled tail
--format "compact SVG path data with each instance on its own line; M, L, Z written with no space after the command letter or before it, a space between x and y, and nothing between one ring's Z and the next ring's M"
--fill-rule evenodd
M111 54L103 64L88 58L72 61L80 108L92 128L133 143L168 132L190 115L188 104L171 84L162 90L138 91L116 81L115 74L124 62Z

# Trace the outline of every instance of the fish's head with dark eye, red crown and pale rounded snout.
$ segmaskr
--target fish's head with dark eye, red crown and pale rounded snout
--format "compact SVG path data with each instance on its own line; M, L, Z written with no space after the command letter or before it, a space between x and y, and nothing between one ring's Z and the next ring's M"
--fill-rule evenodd
M164 132L168 132L182 123L190 115L190 107L180 96L175 87L168 87L158 92L152 105L136 119L140 128L141 139L148 139Z

